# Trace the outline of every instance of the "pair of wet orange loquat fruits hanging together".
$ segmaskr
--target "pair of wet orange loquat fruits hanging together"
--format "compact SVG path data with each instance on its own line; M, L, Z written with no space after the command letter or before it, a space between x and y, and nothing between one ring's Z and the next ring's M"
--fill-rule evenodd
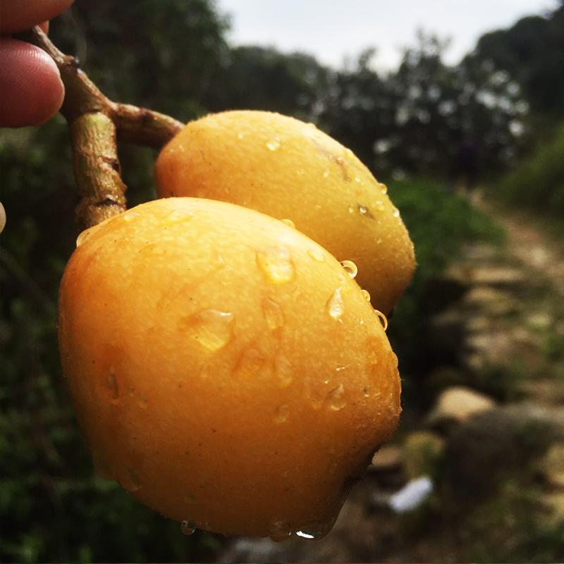
M97 471L185 532L320 537L400 415L381 322L415 268L399 212L279 114L189 123L155 173L161 199L83 232L61 282Z

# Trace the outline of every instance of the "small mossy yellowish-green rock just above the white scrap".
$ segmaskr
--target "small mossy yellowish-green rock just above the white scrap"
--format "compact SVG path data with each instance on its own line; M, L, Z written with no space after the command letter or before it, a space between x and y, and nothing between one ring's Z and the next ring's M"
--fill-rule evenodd
M403 443L407 478L436 477L444 450L444 439L431 431L418 431L407 436Z

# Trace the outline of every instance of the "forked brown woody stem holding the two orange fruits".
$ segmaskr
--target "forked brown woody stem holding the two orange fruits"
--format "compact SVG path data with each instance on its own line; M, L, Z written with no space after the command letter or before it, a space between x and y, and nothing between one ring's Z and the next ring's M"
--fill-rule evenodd
M127 187L121 179L116 134L125 142L158 149L183 124L157 111L112 102L80 70L78 60L59 51L39 26L16 37L47 52L61 73L65 85L61 114L71 131L80 226L87 228L121 214Z

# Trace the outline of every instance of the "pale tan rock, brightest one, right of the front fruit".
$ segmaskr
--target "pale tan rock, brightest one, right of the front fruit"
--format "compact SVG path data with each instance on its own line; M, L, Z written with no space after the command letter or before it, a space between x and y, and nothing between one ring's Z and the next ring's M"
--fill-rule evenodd
M465 386L447 388L427 416L429 427L450 427L496 406L494 400Z

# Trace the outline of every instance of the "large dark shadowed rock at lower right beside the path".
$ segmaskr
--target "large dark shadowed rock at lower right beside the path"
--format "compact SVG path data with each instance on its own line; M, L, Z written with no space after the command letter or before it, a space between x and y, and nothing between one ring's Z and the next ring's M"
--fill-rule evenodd
M502 479L532 480L531 462L564 431L551 412L534 405L496 407L453 429L444 455L446 482L467 500L493 494Z

